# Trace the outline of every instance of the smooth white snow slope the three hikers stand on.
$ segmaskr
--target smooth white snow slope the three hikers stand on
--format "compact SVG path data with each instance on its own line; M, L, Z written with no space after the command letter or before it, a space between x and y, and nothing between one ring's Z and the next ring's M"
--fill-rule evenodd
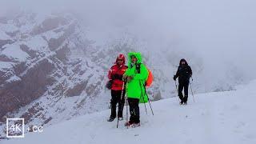
M238 86L236 91L190 95L187 106L178 98L152 102L154 116L140 106L142 126L126 129L124 122L106 122L110 110L88 114L44 129L41 134L26 134L3 144L102 144L102 143L190 143L255 144L256 81ZM126 114L126 108L124 109ZM126 115L125 115L126 118Z

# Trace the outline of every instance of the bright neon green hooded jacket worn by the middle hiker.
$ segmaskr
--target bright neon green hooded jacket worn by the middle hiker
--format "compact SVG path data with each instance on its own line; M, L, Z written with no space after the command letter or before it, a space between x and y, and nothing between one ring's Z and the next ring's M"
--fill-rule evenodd
M136 65L140 65L140 74L136 70L136 66L132 64L131 57L135 56L138 61ZM126 84L126 94L128 98L138 98L140 103L148 102L148 97L146 95L145 82L149 75L146 66L142 63L142 55L140 53L129 53L128 54L128 69L124 74L126 76L132 76L133 79Z

